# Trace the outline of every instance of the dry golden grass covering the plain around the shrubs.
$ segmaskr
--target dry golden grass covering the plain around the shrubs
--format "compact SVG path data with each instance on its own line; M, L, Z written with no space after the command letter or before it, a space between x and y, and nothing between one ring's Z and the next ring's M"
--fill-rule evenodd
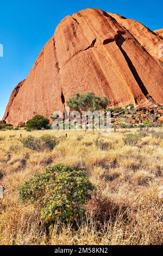
M160 131L161 129L155 129ZM136 129L112 131L102 138L108 150L95 144L98 133L67 131L53 149L38 153L23 148L22 137L45 133L65 136L65 131L0 131L0 173L5 194L0 199L1 245L161 245L163 244L163 139L151 133L136 147L122 137ZM49 232L39 209L22 204L18 185L47 165L65 163L84 169L95 191L87 203L86 222L73 228L55 224Z

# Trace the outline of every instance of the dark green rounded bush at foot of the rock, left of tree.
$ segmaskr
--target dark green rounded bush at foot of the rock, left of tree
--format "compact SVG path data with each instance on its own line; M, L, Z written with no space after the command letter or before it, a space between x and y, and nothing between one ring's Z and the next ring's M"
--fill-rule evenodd
M49 119L43 117L42 115L35 115L34 118L27 122L27 129L41 130L42 127L48 129Z

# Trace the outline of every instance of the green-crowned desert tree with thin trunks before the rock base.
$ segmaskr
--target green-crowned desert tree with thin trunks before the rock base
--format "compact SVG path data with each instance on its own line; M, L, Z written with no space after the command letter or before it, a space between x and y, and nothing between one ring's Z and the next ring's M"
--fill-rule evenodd
M77 93L72 98L67 101L67 106L70 107L72 111L78 111L82 115L83 111L101 111L105 110L109 105L109 100L107 97L95 96L92 92L87 92L84 94ZM84 117L85 131L86 131L86 117Z

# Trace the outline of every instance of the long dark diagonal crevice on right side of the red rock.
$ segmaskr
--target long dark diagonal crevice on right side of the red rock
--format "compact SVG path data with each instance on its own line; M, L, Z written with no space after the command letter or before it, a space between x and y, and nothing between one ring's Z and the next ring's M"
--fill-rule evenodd
M146 89L145 85L143 84L143 82L142 82L139 74L137 73L134 64L131 62L131 59L129 58L127 52L124 51L123 48L122 48L122 45L123 45L124 41L125 41L125 39L123 38L122 34L118 34L117 39L116 39L116 44L120 48L120 51L122 52L124 58L126 59L126 62L127 62L128 66L129 66L129 69L131 70L131 72L132 72L132 74L133 74L137 84L139 85L142 93L145 96L147 96L147 95L149 95L148 90Z

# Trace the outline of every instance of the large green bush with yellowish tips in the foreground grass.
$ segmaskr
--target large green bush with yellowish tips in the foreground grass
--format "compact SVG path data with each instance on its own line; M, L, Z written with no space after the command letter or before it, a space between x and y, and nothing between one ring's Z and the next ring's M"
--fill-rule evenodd
M53 223L73 222L84 216L83 205L91 199L89 190L93 186L82 170L57 164L24 182L18 193L23 202L38 202L42 220Z

